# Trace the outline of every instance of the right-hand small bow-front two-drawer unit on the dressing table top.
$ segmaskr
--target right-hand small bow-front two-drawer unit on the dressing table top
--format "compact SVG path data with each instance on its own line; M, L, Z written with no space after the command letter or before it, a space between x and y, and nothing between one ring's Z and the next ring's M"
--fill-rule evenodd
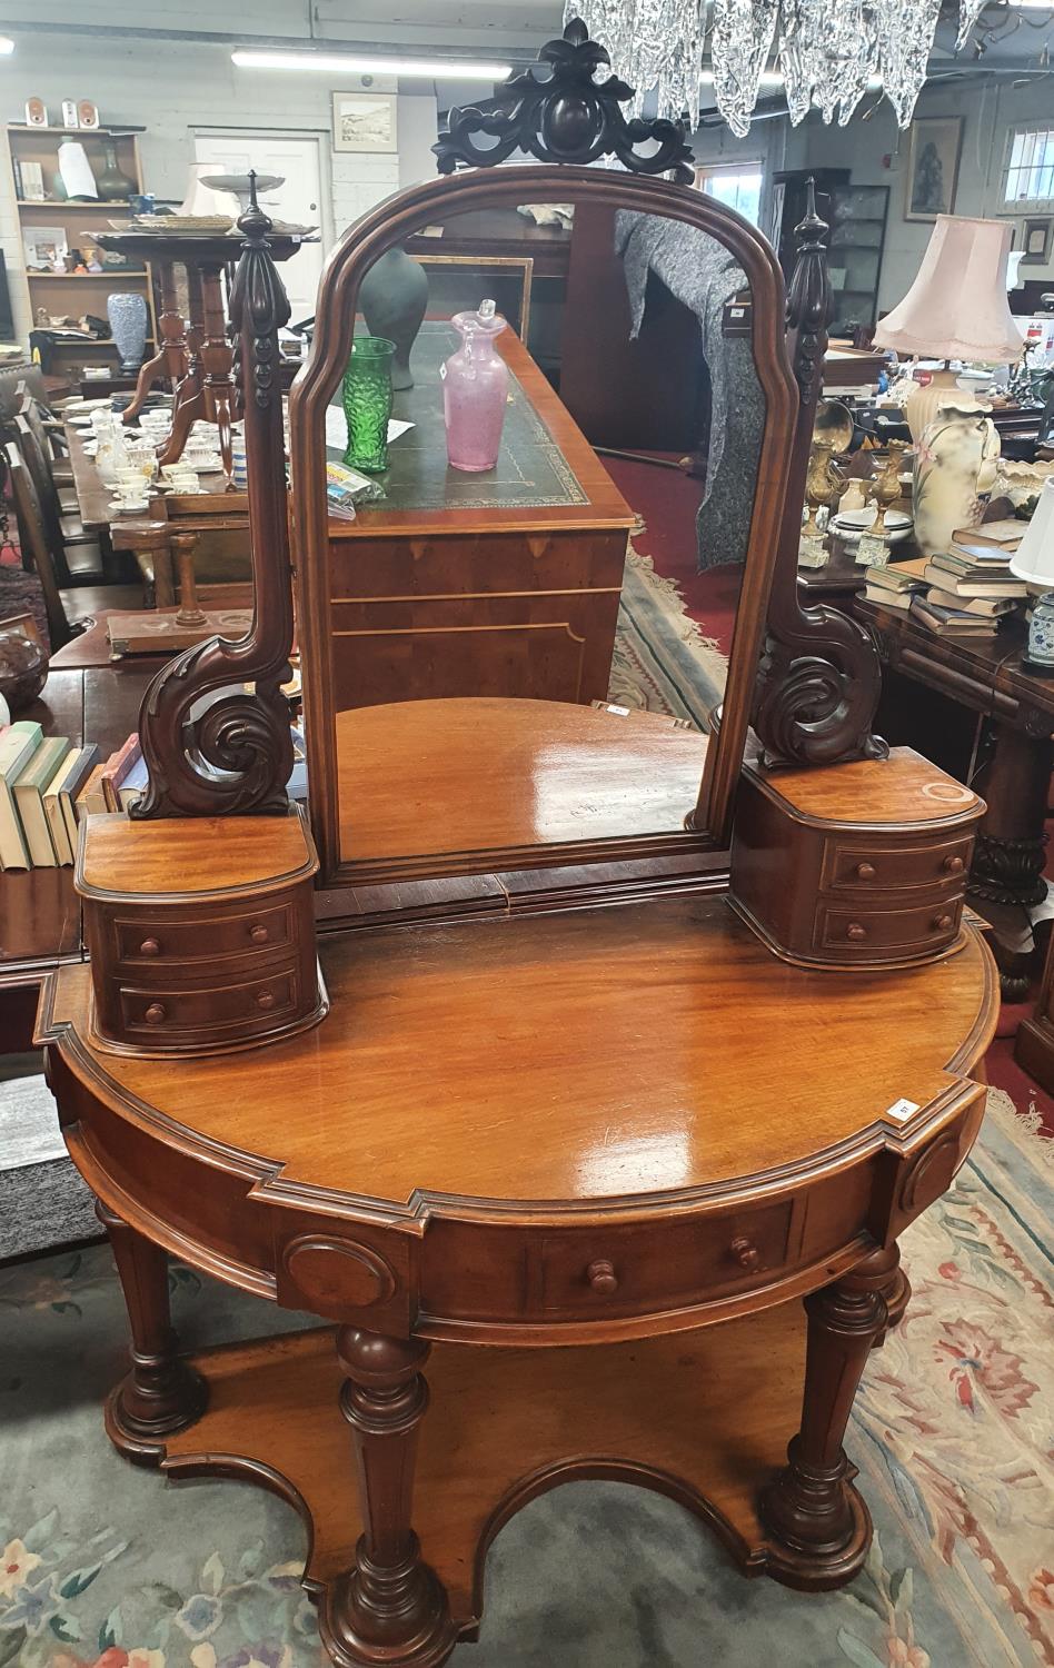
M787 961L904 966L962 944L984 801L911 747L836 771L744 766L732 906Z

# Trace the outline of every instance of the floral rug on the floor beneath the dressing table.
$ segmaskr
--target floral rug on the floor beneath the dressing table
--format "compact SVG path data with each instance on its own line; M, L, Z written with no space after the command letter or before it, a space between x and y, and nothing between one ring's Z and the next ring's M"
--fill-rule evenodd
M857 1399L877 1533L849 1588L744 1581L674 1503L575 1483L497 1538L455 1668L1054 1663L1052 1203L1042 1143L991 1091L974 1158L904 1236L914 1301ZM190 1269L172 1286L195 1348L275 1326ZM105 1246L0 1269L0 1665L320 1668L300 1520L120 1460L100 1401L122 1358Z

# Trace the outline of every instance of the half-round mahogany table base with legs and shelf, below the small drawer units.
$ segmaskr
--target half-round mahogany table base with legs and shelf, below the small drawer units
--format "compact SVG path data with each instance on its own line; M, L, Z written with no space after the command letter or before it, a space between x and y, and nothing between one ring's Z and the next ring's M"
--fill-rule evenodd
M497 1530L575 1478L672 1496L745 1573L851 1580L871 1520L842 1439L907 1303L897 1234L982 1118L976 934L836 977L695 892L320 957L319 1029L178 1063L92 1039L85 967L48 982L38 1039L128 1299L115 1444L295 1505L340 1668L444 1663ZM330 1326L187 1359L165 1251Z

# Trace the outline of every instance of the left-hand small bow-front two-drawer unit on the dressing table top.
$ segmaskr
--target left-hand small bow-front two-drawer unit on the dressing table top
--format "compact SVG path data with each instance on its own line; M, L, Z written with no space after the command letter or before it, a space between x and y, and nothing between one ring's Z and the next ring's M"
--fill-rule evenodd
M213 1054L322 1019L317 867L299 812L88 817L77 891L98 1041L133 1054Z

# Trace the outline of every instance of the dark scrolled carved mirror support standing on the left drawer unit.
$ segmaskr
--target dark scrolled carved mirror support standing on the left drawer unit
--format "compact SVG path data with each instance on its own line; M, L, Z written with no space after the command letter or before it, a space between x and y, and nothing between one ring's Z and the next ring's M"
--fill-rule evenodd
M289 809L285 784L294 749L282 684L290 677L294 612L277 364L279 330L290 309L270 259L272 225L255 202L255 185L238 229L245 242L230 315L252 390L243 402L252 631L238 642L210 637L197 644L162 667L150 684L138 722L150 784L132 811L137 817L260 816Z

